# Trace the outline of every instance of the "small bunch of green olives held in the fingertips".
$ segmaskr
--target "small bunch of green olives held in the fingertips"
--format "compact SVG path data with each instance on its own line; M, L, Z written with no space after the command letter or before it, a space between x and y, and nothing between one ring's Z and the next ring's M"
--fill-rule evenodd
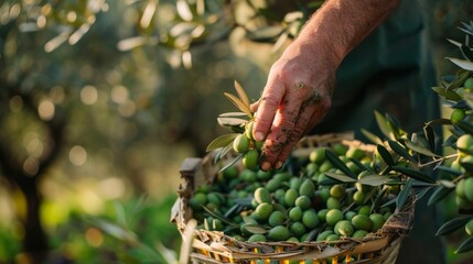
M246 168L257 169L258 160L264 142L252 138L252 127L255 121L245 123L245 133L237 135L233 142L233 148L243 154L243 164Z

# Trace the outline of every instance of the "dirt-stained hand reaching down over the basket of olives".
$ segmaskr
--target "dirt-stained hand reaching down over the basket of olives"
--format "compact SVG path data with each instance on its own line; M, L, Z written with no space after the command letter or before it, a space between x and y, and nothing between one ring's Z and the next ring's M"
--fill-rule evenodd
M251 105L254 138L265 141L259 161L264 170L280 168L295 143L331 107L337 64L326 56L330 51L318 54L324 55L289 46L272 65L261 98Z

